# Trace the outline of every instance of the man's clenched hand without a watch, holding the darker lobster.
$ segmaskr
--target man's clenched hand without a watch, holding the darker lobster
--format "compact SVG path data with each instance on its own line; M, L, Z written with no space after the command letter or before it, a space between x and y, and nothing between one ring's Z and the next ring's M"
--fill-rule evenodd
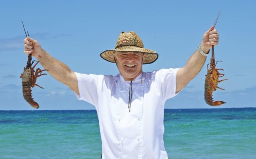
M33 38L27 37L24 39L24 53L29 55L32 53L32 56L37 59L41 58L41 54L43 53L40 44L34 40Z

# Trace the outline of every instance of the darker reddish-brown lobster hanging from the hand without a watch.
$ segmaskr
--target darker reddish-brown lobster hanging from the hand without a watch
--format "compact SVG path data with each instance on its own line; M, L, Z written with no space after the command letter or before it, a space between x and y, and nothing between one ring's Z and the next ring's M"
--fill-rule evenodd
M23 28L24 28L23 22L22 22L22 25L23 25ZM24 28L24 31L25 31L25 28ZM25 31L25 34L26 34L26 37L27 37L28 32L26 33L26 31ZM39 63L39 61L34 60L34 61L32 61L32 63L31 63L31 61L32 61L32 56L31 56L31 53L30 53L28 55L28 59L27 59L27 66L24 67L23 74L21 74L21 76L20 76L21 79L22 79L22 93L23 93L23 97L27 101L27 103L29 103L34 108L38 109L39 105L38 105L37 102L34 101L34 99L32 97L31 87L34 87L35 85L37 85L36 84L37 77L46 75L46 74L42 74L42 72L43 71L48 71L48 70L46 70L46 69L41 70L40 68L37 68L37 70L35 71L34 68ZM32 67L34 62L37 62L37 63ZM37 85L37 86L40 87L40 88L43 88L40 85Z

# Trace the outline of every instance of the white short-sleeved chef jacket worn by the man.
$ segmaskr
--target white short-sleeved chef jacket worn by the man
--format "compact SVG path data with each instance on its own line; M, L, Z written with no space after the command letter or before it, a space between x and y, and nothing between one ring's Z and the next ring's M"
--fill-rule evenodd
M143 72L132 81L117 76L80 74L79 100L96 107L103 159L168 159L163 134L164 104L176 95L176 69ZM142 78L142 82L141 82Z

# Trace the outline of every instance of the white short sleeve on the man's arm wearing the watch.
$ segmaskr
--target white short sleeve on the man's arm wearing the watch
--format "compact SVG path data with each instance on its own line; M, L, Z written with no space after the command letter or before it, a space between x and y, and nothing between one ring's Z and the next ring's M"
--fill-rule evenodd
M172 98L178 94L176 93L176 77L179 69L180 68L161 69L155 74L164 100Z

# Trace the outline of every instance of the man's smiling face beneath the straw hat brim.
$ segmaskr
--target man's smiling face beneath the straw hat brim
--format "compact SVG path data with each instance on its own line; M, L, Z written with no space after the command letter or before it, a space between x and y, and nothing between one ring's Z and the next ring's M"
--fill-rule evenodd
M117 52L114 58L120 74L126 81L134 80L140 75L142 71L142 53Z

